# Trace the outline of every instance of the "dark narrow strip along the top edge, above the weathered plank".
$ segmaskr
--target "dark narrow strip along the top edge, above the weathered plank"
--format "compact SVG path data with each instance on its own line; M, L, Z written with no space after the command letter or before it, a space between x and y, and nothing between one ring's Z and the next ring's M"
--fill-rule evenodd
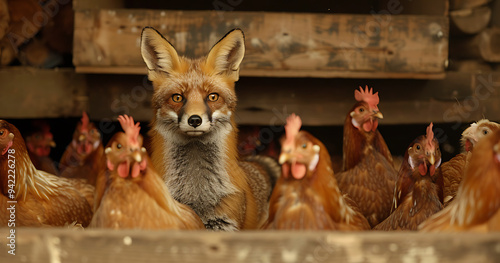
M135 8L135 9L169 9L169 10L217 10L225 13L231 11L251 12L299 12L299 13L335 13L335 14L369 14L373 11L387 10L393 15L417 14L417 15L446 15L448 0L419 0L416 2L404 0L376 0L376 1L326 1L309 0L307 5L301 1L288 0L189 0L169 1L165 0L74 0L78 6L76 10L82 9L111 9L111 8ZM403 7L401 12L395 12ZM385 12L384 12L385 13Z

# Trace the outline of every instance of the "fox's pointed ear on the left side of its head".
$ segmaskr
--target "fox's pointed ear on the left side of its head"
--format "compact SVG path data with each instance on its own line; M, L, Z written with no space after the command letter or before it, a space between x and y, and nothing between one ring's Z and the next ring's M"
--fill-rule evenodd
M174 46L152 27L142 30L141 54L149 70L172 74L179 69L180 59Z

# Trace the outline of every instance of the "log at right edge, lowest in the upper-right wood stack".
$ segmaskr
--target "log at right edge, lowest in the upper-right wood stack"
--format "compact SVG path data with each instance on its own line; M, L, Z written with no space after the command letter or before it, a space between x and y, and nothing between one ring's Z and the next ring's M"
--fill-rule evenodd
M470 38L450 42L450 57L500 62L500 28L487 28Z

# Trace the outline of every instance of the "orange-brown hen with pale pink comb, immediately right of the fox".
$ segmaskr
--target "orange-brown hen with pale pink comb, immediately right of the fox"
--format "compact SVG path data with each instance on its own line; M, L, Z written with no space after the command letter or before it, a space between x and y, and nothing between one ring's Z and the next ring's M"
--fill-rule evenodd
M308 132L299 132L301 125L298 116L288 117L280 155L282 176L271 195L264 228L370 229L354 202L341 194L326 147Z

